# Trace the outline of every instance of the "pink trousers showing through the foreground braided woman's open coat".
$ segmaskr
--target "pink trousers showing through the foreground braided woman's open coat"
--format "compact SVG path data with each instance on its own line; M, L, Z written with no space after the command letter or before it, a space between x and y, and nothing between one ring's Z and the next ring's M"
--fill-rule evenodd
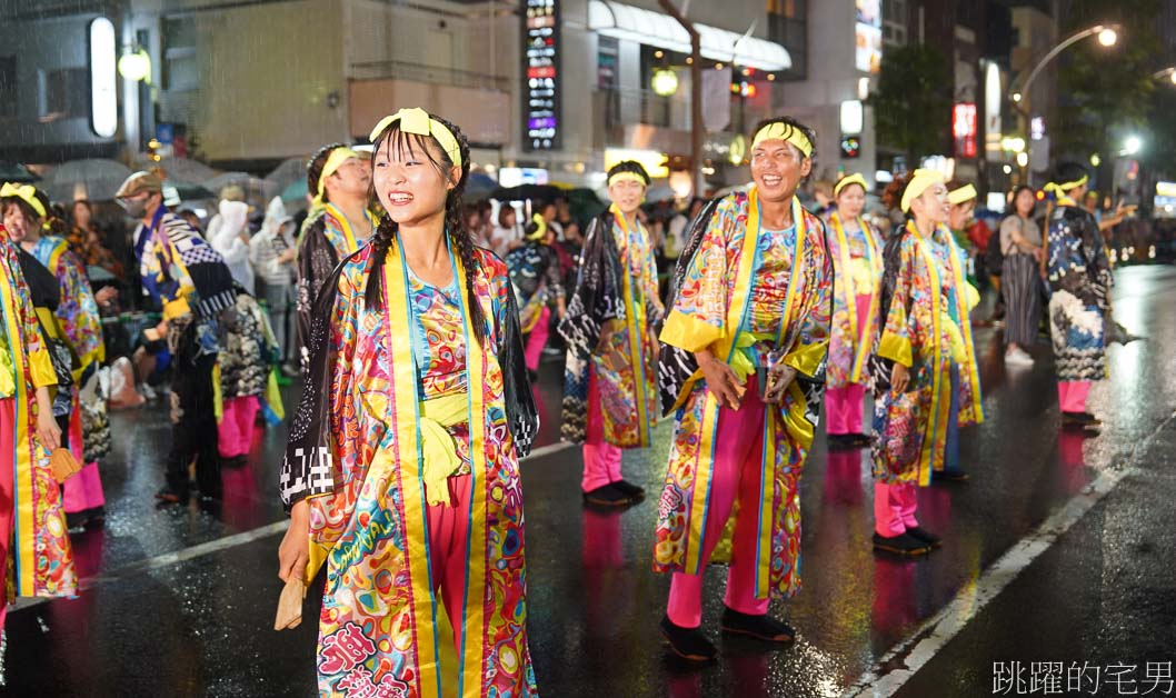
M457 475L446 482L449 485L449 504L428 506L429 577L433 578L434 593L441 593L441 603L453 625L454 647L460 653L466 610L466 571L469 569L466 541L469 538L472 488L468 475ZM470 603L476 602L470 599Z

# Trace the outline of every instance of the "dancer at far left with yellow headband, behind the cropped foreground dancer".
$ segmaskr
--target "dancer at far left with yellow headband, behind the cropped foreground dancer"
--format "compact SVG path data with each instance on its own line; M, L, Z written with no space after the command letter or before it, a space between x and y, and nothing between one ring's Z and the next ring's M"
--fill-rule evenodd
M0 190L5 227L13 242L36 259L56 278L59 301L53 309L54 318L45 318L46 333L54 335L69 348L72 373L69 384L62 385L62 394L55 403L61 403L59 424L65 432L64 442L74 458L83 463L81 472L65 482L62 504L71 528L98 523L106 518L106 497L98 463L86 463L81 428L80 387L82 377L96 369L106 357L102 342L102 320L98 301L89 287L85 267L69 249L65 237L42 234L51 214L48 197L32 186L6 184Z

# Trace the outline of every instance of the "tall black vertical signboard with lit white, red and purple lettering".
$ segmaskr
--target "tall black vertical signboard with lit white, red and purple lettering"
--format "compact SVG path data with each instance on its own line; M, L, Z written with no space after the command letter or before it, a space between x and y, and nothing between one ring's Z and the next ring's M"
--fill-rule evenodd
M560 123L559 0L522 0L523 150L554 150Z

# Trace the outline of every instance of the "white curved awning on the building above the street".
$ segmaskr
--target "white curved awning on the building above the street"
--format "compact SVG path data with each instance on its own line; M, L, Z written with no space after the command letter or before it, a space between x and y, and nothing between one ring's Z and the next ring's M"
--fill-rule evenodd
M734 62L759 71L787 71L793 67L788 49L773 41L694 25L699 31L702 56ZM636 41L677 53L690 53L690 34L674 18L613 0L592 0L588 28L606 36Z

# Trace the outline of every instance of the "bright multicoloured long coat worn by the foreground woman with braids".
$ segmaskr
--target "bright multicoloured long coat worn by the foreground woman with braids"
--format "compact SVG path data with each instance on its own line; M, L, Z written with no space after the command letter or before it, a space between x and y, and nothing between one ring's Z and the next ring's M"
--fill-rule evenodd
M315 306L313 360L281 491L287 505L309 498L307 577L327 569L323 696L440 697L442 673L457 677L446 694L536 694L517 458L530 449L537 416L506 267L489 251L475 255L482 345L460 262L452 289L425 287L395 242L381 269L370 270L372 247L352 255ZM381 309L363 302L369 273L383 275ZM446 404L453 414L439 414ZM441 553L430 530L446 483L470 492L468 514L454 512L468 522L469 542L461 556L466 603L452 618L463 629L456 671L440 665Z

